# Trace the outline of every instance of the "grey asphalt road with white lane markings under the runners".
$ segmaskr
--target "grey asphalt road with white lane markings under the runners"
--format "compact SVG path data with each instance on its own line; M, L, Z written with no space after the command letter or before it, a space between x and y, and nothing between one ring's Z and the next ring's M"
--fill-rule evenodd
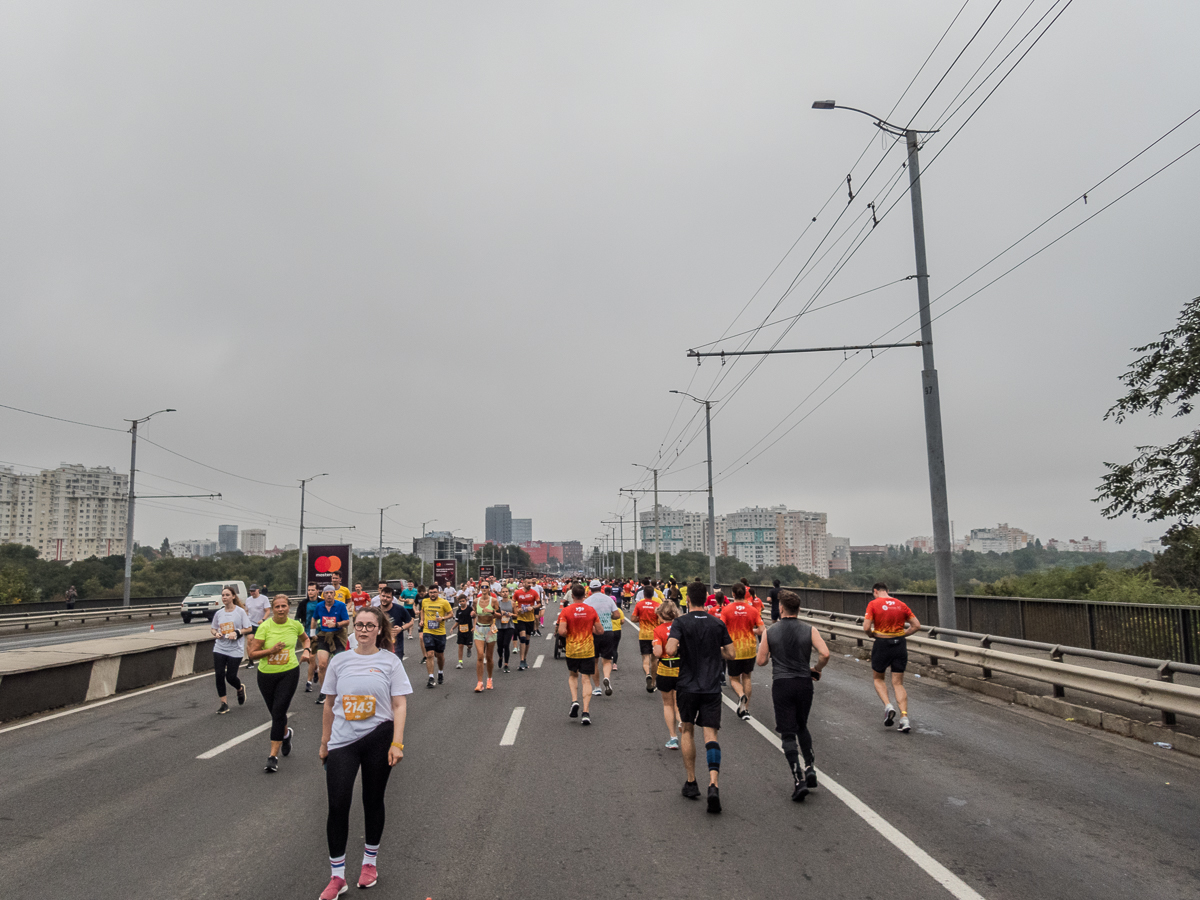
M616 694L594 698L589 728L566 716L548 641L533 643L541 667L497 676L482 695L469 664L427 690L410 660L407 756L388 791L374 894L954 896L913 860L920 851L988 900L1194 900L1200 889L1198 761L916 679L913 731L900 734L882 727L866 664L844 658L816 685L817 768L919 850L898 850L828 786L793 804L782 755L728 709L725 811L708 815L679 796L683 766L662 746L632 632L622 649ZM769 728L764 674L751 713ZM246 706L226 716L214 715L206 676L0 728L8 893L316 898L329 870L314 695L296 695L295 750L277 775L263 773L265 733L197 758L268 721L248 684ZM516 707L515 742L500 746ZM356 803L352 884L361 836Z

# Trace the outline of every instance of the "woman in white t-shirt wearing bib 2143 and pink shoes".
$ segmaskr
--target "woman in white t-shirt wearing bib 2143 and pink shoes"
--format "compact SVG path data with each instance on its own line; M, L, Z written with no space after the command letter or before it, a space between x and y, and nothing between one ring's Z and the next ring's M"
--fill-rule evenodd
M378 878L376 856L383 839L384 792L391 767L404 758L404 712L413 685L392 652L388 616L376 606L354 613L356 646L340 653L325 670L320 758L329 794L329 886L320 900L346 890L346 842L350 829L354 780L362 770L362 817L366 845L359 887Z

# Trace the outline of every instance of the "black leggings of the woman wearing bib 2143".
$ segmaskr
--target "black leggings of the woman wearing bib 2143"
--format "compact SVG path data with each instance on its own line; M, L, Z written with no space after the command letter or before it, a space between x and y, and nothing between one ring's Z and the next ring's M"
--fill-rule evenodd
M329 856L337 859L346 854L346 839L350 830L350 802L354 799L354 779L362 768L362 818L366 824L366 842L378 845L383 838L383 794L388 790L388 749L395 725L389 719L380 722L370 734L353 744L330 750L325 757L325 790L329 793L329 818L325 820L325 838Z

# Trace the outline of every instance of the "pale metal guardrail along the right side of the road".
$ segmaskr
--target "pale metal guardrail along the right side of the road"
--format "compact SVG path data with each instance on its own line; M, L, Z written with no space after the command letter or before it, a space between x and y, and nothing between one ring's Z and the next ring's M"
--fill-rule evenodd
M815 625L818 630L828 631L830 637L840 636L854 640L858 646L864 641L872 640L863 632L860 616L846 613L830 613L824 610L802 610L803 619ZM839 622L838 619L841 619ZM1175 684L1174 673L1200 674L1200 666L1175 662L1172 660L1157 660L1146 656L1133 656L1128 654L1106 653L1092 650L1086 647L1067 647L1063 644L1048 644L1034 641L1021 641L1019 638L1006 638L996 635L982 635L974 631L949 631L935 628L922 628L920 636L908 637L908 643L913 649L930 658L934 665L938 660L949 659L970 666L978 666L983 670L985 678L991 673L1002 672L1004 674L1027 678L1034 682L1050 684L1054 688L1054 696L1063 696L1066 688L1096 694L1098 696L1120 700L1128 703L1157 709L1163 714L1165 725L1175 724L1175 715L1190 715L1200 718L1200 688ZM940 641L936 634L953 637L965 637L979 641L977 646L966 643L950 643ZM1044 660L1033 656L1025 656L1016 653L1006 653L991 648L991 644L1008 644L1025 649L1045 650L1049 656ZM1121 662L1124 665L1153 668L1157 678L1141 678L1120 672L1109 672L1100 668L1087 668L1063 662L1064 656L1079 656L1109 662Z

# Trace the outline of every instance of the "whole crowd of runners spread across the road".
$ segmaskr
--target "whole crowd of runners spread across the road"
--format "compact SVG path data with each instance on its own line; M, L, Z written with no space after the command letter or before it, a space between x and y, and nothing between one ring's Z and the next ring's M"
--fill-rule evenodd
M350 590L335 574L329 584L310 584L292 614L290 600L268 600L252 586L242 601L230 586L214 616L214 661L218 714L230 710L228 689L246 702L238 672L242 661L257 666L259 694L271 716L270 750L264 770L277 773L280 757L292 752L295 737L288 713L307 666L305 691L323 707L319 756L325 769L329 814L330 882L320 900L347 890L346 848L354 784L361 773L365 821L358 887L378 878L377 854L384 827L384 793L391 769L404 756L407 696L413 688L404 670L406 643L419 642L426 688L445 684L446 643L455 636L455 668L474 658L474 691L494 690L494 677L529 668L529 647L558 605L546 640L554 658L565 658L570 707L568 718L590 726L594 697L611 697L626 619L637 629L641 676L649 694L661 698L666 749L679 750L685 772L682 794L704 796L697 779L697 742L707 766L707 810L721 811L722 688L737 697L736 715L750 720L751 676L770 666L770 698L784 756L792 776L791 798L803 802L817 787L808 719L812 683L829 661L817 629L798 619L799 596L779 582L767 606L745 578L709 589L697 578L641 581L562 581L548 578L470 580L456 586L413 586L397 590L379 582L371 594ZM763 616L768 617L764 620ZM886 727L911 728L904 673L905 638L920 628L912 611L876 584L863 630L874 638L871 668L884 707ZM472 653L474 652L474 653ZM816 654L816 661L812 655ZM540 665L540 661L539 661ZM888 695L890 670L893 703ZM641 690L641 688L638 688Z

